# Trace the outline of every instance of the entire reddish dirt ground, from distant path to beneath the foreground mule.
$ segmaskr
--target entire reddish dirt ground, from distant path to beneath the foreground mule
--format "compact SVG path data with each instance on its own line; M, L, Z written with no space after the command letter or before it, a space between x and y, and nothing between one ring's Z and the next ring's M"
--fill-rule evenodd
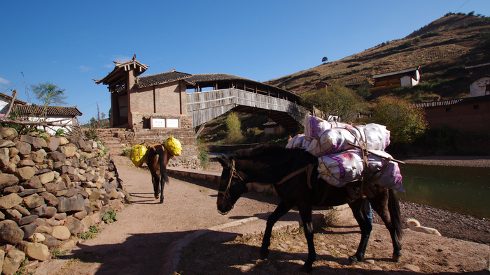
M131 203L118 212L119 221L104 225L97 238L82 241L69 255L43 263L36 274L300 274L297 267L307 248L302 234L294 232L299 220L294 211L283 218L283 228L296 229L276 235L272 260L257 259L259 233L276 199L248 193L222 216L216 211L216 188L170 178L160 205L153 198L148 170L135 168L122 156L114 161L132 195ZM367 250L370 260L347 265L359 232L353 218L346 221L317 232L312 274L490 274L489 246L419 232L407 232L403 260L390 262L386 258L391 258L391 241L383 225L374 225ZM233 241L239 235L248 237Z

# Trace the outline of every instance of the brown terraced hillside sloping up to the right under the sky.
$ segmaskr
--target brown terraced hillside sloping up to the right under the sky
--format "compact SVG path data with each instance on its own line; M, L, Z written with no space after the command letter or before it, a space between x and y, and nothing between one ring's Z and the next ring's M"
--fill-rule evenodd
M302 94L318 82L372 83L373 75L421 66L421 84L437 80L429 94L469 96L464 66L490 61L489 34L490 17L447 14L405 38L265 83Z

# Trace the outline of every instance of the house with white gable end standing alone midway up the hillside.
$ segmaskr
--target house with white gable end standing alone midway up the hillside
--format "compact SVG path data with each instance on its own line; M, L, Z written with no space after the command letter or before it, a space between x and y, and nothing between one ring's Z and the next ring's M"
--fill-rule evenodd
M371 91L415 86L420 82L420 66L391 73L381 73L372 78L374 79L374 87L371 88Z

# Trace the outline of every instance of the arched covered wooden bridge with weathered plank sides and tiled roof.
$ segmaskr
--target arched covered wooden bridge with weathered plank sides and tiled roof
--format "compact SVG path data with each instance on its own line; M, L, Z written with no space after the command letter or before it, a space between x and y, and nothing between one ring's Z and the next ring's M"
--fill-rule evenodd
M265 115L293 134L302 130L308 113L298 104L299 96L243 77L204 74L193 75L186 82L188 89L195 89L187 94L187 112L193 118L193 127L233 110ZM212 90L202 91L203 88Z

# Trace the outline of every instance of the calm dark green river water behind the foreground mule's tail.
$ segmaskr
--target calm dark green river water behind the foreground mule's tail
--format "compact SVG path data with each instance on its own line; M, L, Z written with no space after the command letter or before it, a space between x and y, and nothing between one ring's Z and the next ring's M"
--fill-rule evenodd
M400 165L402 200L490 219L490 168Z

